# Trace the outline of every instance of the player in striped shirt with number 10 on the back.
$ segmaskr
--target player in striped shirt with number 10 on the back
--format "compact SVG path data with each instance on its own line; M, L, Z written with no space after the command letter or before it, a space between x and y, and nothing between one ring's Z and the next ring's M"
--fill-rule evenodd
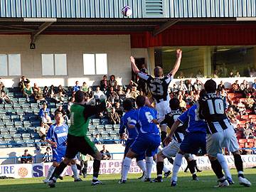
M213 171L218 177L218 186L229 186L223 175L220 162L217 160L217 156L222 152L223 147L227 148L234 156L240 185L251 186L250 181L243 174L242 159L238 150L238 139L235 137L234 127L225 114L226 99L216 93L217 85L214 80L207 80L204 87L206 94L201 95L198 101L198 114L201 119L206 120L208 125L206 150Z

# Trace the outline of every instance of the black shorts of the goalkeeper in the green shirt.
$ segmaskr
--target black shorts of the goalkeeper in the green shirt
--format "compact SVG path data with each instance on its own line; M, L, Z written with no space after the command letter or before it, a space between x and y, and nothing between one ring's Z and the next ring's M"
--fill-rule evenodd
M65 157L68 159L73 159L80 152L81 154L90 154L93 156L97 153L97 148L93 142L87 137L75 137L73 135L68 134L67 140L67 149L65 153Z

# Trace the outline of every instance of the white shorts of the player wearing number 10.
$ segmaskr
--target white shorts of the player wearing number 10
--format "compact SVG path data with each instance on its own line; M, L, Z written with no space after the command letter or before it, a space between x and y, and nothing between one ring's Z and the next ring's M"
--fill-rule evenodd
M235 131L232 126L215 134L208 134L206 137L206 151L210 156L217 157L217 154L222 154L223 147L230 152L235 152L239 149L238 139L235 137Z

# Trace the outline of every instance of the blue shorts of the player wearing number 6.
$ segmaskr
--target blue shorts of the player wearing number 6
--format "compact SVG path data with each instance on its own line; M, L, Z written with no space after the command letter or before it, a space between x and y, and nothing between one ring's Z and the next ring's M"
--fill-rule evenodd
M131 150L135 154L146 154L146 156L154 156L161 143L159 134L143 134L135 139L131 145Z

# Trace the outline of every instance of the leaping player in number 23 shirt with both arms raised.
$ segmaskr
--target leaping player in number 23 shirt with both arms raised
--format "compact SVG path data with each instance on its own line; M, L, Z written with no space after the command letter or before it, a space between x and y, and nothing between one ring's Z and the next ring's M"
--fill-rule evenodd
M169 84L171 80L174 79L174 75L177 73L179 66L181 65L181 57L182 50L176 50L176 63L174 64L173 70L169 72L168 75L164 76L163 69L159 66L154 68L154 77L151 75L144 74L139 71L137 65L135 64L135 60L131 57L132 62L132 70L134 73L139 75L139 78L146 80L146 83L149 87L151 95L156 102L156 110L157 110L157 119L161 122L165 114L169 111ZM166 125L161 125L161 141L163 142L166 138L167 127Z

